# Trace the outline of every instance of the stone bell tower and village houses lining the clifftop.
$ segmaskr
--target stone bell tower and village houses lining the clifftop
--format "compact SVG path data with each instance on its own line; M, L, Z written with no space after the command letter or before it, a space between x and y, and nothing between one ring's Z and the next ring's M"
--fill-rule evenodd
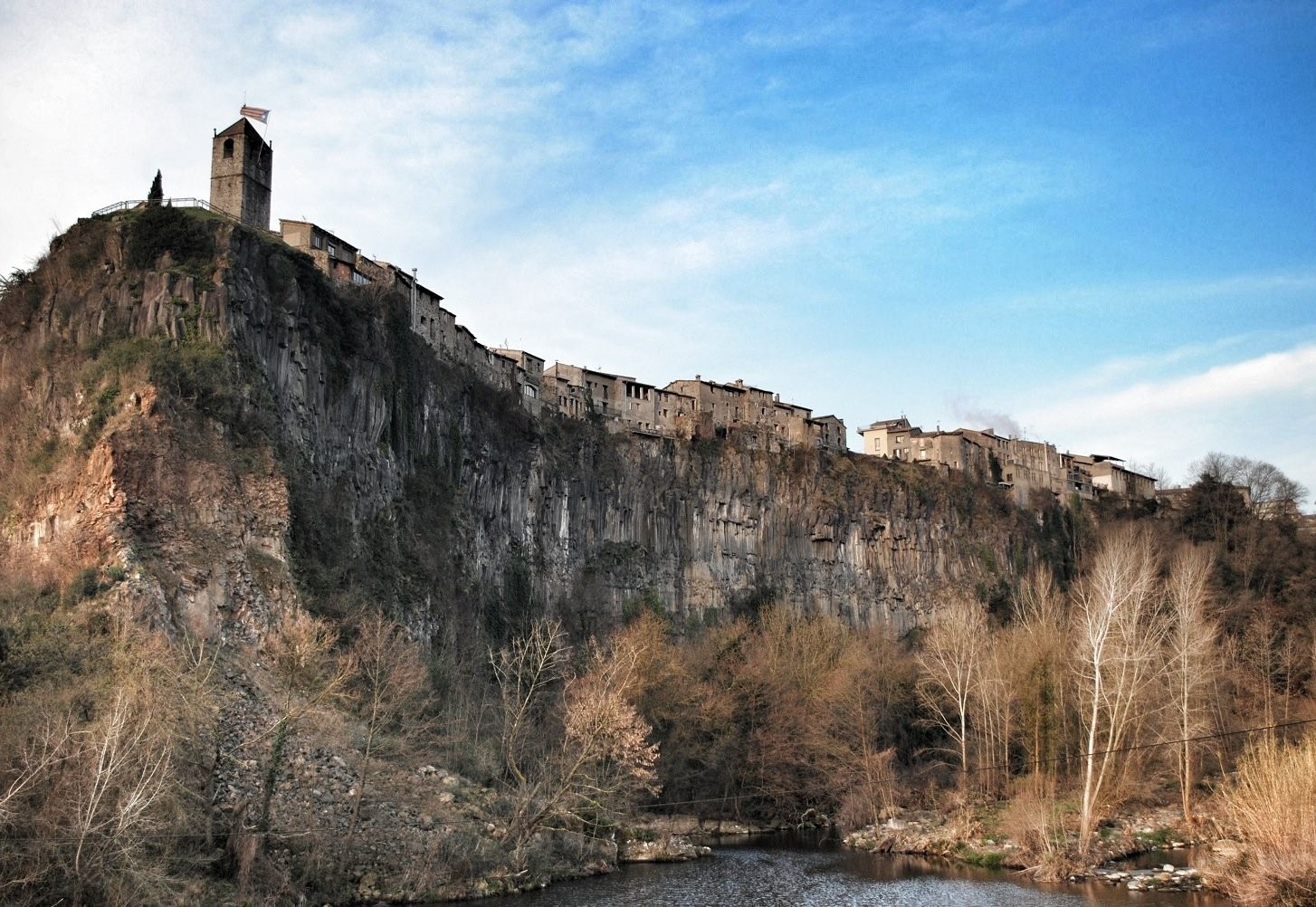
M268 232L272 158L272 147L245 117L217 132L211 149L211 207ZM278 234L337 282L405 294L412 329L441 361L467 366L487 383L515 392L533 415L595 417L615 432L658 437L734 433L742 444L770 452L800 445L848 449L845 423L838 417L813 416L808 407L744 380L724 384L695 375L658 387L562 362L545 367L545 359L533 353L487 348L457 324L442 307L443 298L421 286L415 270L367 258L309 221L280 219ZM1154 479L1120 466L1117 457L1062 454L1054 445L1000 437L990 428L924 432L901 416L874 423L859 434L866 454L979 475L1011 488L1024 507L1036 505L1038 495L1145 499L1155 494Z

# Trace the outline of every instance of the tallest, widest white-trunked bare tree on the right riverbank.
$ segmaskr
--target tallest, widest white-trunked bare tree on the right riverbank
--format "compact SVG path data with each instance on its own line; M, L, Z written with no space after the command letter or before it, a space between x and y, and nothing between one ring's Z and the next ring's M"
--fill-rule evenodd
M1157 565L1145 533L1124 529L1105 540L1076 606L1084 746L1079 845L1086 850L1117 750L1126 745L1144 694L1161 670L1165 628L1157 616Z

